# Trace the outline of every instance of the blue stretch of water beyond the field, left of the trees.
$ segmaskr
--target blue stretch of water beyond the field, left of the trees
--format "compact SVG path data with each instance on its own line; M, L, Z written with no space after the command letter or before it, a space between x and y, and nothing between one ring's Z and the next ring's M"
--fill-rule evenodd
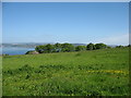
M35 50L35 48L22 48L22 47L3 47L0 48L0 54L25 54L29 50Z

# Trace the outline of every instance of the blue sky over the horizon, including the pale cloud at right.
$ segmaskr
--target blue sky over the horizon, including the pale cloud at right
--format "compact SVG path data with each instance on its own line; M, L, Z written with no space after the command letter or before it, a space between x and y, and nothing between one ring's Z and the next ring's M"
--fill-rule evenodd
M3 42L129 44L128 2L3 2Z

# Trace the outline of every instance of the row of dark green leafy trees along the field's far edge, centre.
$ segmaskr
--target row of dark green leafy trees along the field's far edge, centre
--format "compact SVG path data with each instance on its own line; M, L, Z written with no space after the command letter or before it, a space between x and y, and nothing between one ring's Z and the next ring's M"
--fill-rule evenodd
M43 45L36 46L35 50L39 53L49 53L49 52L70 52L70 51L83 51L83 50L96 50L109 48L105 44L88 44L87 46L76 46L74 47L72 44L55 44L55 45Z

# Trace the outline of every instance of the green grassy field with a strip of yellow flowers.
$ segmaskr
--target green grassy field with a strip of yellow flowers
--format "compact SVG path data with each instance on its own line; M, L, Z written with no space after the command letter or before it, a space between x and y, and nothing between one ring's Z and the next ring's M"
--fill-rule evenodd
M128 96L129 48L5 56L3 96Z

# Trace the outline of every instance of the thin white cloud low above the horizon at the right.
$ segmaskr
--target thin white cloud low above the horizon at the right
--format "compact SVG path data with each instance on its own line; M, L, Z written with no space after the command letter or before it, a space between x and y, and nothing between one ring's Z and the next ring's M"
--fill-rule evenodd
M129 45L129 34L109 36L107 38L99 39L98 42L104 42L107 45Z

